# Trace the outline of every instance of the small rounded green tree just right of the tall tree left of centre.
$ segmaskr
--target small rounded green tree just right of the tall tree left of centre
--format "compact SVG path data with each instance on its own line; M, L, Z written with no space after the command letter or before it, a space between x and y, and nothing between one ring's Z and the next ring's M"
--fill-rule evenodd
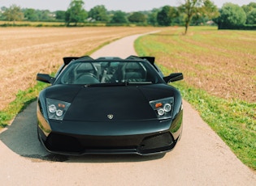
M92 18L100 22L107 22L109 20L109 16L107 15L106 8L103 5L94 6L89 11L89 18Z

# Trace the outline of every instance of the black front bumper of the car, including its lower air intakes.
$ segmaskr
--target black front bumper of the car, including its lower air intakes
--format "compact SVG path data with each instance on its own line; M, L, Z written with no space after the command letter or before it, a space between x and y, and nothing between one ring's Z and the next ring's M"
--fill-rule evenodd
M180 139L182 112L175 120L136 122L47 121L38 117L39 139L54 154L160 154Z

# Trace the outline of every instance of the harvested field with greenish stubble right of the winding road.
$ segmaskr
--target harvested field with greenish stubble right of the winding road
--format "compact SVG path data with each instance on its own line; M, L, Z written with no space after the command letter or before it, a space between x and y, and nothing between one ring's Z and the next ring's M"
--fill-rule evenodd
M183 72L186 82L210 95L256 103L256 32L191 27L183 36L183 30L172 27L141 39L145 55Z

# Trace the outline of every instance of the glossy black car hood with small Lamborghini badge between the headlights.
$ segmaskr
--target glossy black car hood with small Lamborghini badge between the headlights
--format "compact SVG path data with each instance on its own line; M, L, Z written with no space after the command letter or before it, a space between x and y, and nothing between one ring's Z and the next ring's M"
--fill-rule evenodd
M165 84L121 87L50 87L46 97L71 103L63 120L131 121L155 120L151 100L173 95L174 88Z

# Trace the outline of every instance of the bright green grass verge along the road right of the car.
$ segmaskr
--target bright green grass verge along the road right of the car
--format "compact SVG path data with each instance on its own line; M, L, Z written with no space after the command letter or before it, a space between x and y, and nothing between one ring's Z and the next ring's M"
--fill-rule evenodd
M176 82L175 86L236 156L256 170L256 104L221 99L185 82Z

